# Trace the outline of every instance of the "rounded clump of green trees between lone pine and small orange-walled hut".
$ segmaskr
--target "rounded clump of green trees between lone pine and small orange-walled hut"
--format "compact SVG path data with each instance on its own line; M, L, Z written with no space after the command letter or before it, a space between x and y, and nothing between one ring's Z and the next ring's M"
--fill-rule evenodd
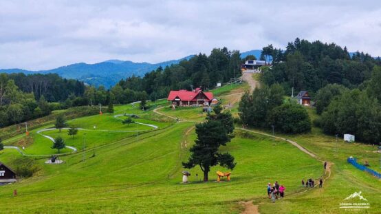
M246 92L239 101L239 118L244 126L275 129L283 133L304 133L311 130L306 109L295 100L284 100L279 84L263 85Z

